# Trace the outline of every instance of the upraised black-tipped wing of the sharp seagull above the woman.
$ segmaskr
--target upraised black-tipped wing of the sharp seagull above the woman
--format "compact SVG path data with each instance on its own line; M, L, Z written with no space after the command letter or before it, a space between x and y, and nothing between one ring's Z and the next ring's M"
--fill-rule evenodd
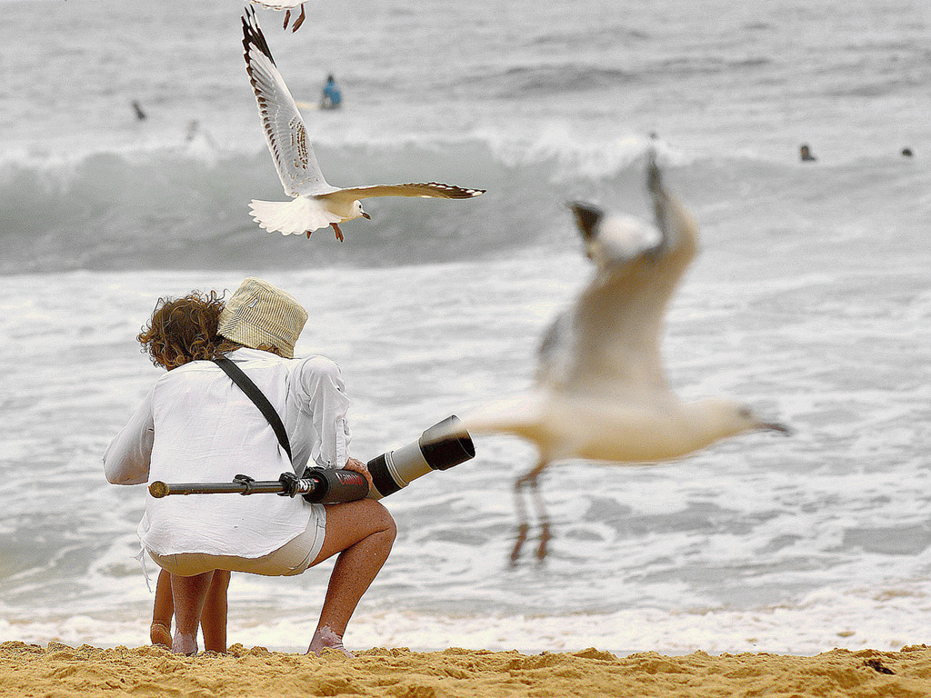
M247 9L242 17L242 45L268 149L275 160L278 177L290 196L331 192L323 179L317 155L307 140L304 119L291 97L284 78L278 73L255 10Z

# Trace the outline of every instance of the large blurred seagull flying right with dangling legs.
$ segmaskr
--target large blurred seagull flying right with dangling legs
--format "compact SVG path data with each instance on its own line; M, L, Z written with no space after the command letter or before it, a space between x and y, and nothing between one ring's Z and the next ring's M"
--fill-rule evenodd
M663 318L698 251L697 226L663 186L653 150L647 189L657 230L588 204L570 205L594 278L546 330L530 395L465 420L473 435L521 436L539 452L536 465L514 485L519 529L511 564L529 530L524 487L541 521L537 557L546 557L550 530L537 480L550 463L654 463L751 430L789 431L732 400L685 403L669 388L660 355Z

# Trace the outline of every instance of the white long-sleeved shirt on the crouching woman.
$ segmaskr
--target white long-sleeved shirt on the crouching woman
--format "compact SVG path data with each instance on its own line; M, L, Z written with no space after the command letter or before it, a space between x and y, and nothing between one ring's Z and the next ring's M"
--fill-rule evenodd
M283 359L256 349L229 358L277 410L288 432L293 470L314 461L344 467L349 398L339 367L323 356ZM230 482L239 474L277 480L288 454L245 393L212 361L192 361L153 385L103 454L110 482ZM311 506L274 494L146 495L142 545L158 555L207 553L262 557L304 532Z

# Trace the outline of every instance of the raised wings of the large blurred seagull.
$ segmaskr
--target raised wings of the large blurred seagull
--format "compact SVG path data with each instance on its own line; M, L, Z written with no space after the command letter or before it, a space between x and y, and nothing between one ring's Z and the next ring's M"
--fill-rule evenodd
M540 383L567 394L625 399L670 395L660 354L664 317L697 253L697 225L663 186L652 157L648 187L661 236L658 244L632 254L628 244L612 247L619 227L615 220L592 220L576 210L583 235L592 237L589 249L594 248L598 269L575 304L547 331L537 372ZM627 252L618 255L618 248Z

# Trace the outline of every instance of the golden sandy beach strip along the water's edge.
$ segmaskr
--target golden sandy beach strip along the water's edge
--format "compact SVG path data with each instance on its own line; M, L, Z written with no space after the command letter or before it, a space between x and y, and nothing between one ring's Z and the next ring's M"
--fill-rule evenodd
M373 649L346 659L234 645L179 657L154 647L0 645L0 695L288 696L926 696L931 648L834 650L813 657L695 652L618 657L588 649L537 655L452 648Z

